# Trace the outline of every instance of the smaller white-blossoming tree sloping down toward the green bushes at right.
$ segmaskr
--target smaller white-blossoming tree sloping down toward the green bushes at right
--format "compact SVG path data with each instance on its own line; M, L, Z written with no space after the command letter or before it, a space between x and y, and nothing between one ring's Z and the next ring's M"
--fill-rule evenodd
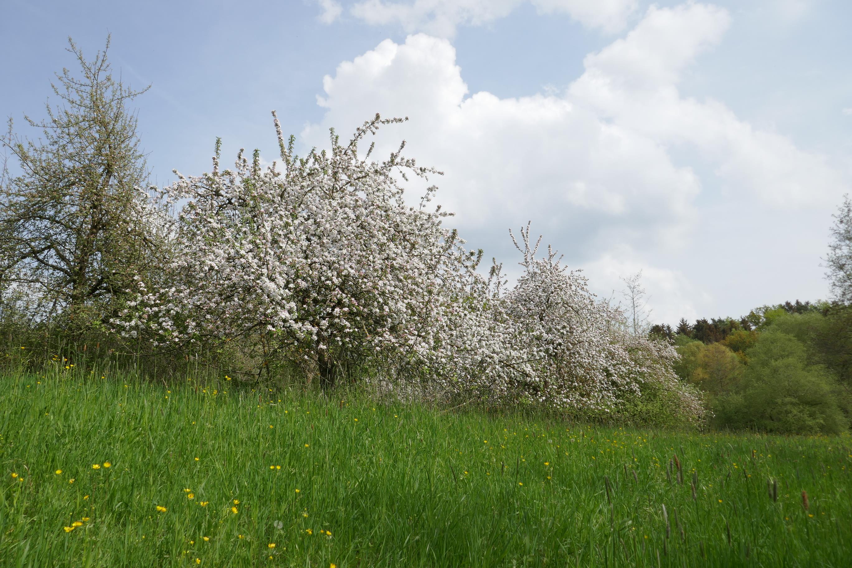
M447 391L606 414L662 390L684 416L699 419L699 393L672 368L674 347L631 334L625 314L597 300L550 247L538 258L541 238L531 244L528 225L521 243L512 239L524 268L515 286L502 293L501 267L493 267L487 284L472 287L468 309L446 318L439 348L424 353L444 370Z

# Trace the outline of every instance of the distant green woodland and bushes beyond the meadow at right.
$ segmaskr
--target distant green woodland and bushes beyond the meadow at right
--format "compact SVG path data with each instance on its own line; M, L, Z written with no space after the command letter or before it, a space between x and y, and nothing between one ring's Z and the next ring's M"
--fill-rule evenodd
M717 427L839 433L852 416L852 309L786 301L741 318L653 325L672 341L683 381L699 387Z

